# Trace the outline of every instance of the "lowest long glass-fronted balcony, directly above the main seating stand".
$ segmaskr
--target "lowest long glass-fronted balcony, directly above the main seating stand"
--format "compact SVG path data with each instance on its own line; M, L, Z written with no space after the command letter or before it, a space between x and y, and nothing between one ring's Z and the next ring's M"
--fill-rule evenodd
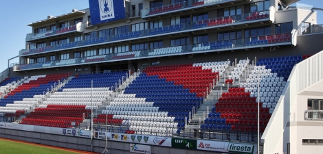
M296 30L293 30L296 33ZM143 51L130 51L109 55L96 55L93 57L79 57L69 60L57 60L36 64L15 65L14 71L32 70L39 68L55 68L60 66L74 66L80 64L95 64L100 62L118 62L120 60L137 60L148 57L166 57L172 55L188 55L192 53L209 53L216 51L232 51L238 49L250 49L270 47L276 45L288 45L292 43L293 34L277 34L271 36L256 36L236 40L221 40L205 42L201 44L188 44L185 46L165 47L161 49L148 49Z

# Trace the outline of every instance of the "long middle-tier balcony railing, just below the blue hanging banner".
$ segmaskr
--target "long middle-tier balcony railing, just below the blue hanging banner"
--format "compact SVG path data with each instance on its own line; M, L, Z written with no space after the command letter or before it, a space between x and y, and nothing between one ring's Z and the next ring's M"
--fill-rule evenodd
M226 27L231 25L241 25L244 23L252 23L258 21L267 21L269 20L269 12L253 12L240 14L236 16L223 16L218 18L210 18L204 21L198 21L193 23L182 23L179 25L169 25L164 27L159 27L155 29L146 29L142 31L133 31L125 34L119 34L114 36L107 36L103 38L92 38L89 40L82 40L78 42L69 42L65 44L58 44L54 46L38 48L38 49L30 49L23 50L19 52L19 55L32 55L36 53L45 53L52 52L62 49L69 48L77 48L82 46L89 46L92 44L104 44L107 42L113 42L118 40L126 40L126 39L137 39L144 38L145 36L155 36L155 35L167 35L167 34L175 34L180 31L196 31L199 29L212 29L214 27Z

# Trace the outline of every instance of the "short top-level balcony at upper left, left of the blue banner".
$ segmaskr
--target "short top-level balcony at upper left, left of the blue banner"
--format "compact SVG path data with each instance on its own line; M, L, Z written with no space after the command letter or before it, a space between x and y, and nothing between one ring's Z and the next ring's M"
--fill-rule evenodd
M61 34L69 34L72 32L82 32L82 31L84 31L84 24L78 23L76 25L71 25L69 27L63 27L55 30L45 31L43 33L27 34L26 41L38 40L41 38L48 38L52 36L58 36Z

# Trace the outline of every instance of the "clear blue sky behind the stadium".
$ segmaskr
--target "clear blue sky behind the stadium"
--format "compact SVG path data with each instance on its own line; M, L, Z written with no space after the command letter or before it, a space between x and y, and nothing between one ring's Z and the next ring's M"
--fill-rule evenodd
M32 32L29 23L41 21L47 16L59 16L72 9L89 8L89 0L0 0L0 73L8 68L8 59L25 49L26 34ZM321 0L301 0L298 3L323 8ZM318 24L323 24L323 12L318 11ZM10 64L19 62L16 58Z

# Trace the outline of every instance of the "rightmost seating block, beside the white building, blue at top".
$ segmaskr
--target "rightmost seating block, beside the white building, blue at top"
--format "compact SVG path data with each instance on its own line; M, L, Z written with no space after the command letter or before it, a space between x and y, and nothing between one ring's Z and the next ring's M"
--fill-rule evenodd
M254 66L254 70L245 83L241 83L239 88L230 88L228 92L221 94L219 102L215 104L212 113L208 114L201 129L203 131L256 132L259 105L260 132L265 131L291 73L291 68L302 60L302 56L258 60L257 66Z

